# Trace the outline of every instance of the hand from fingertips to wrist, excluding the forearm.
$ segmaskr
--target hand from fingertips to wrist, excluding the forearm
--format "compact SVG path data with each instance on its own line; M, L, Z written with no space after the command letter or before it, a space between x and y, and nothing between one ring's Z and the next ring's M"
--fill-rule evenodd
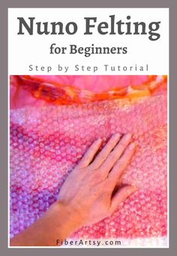
M133 185L116 188L136 148L130 141L130 134L115 134L95 157L102 142L96 140L65 180L58 203L71 212L77 227L112 215L136 190Z

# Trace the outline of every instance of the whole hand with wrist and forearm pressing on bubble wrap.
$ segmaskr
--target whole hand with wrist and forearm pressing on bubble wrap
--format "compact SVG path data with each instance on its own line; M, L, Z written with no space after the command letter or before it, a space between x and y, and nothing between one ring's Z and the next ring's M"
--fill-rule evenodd
M130 140L130 134L121 139L115 134L95 157L101 146L101 140L96 140L62 185L58 200L30 227L10 239L10 245L61 245L78 227L112 215L136 189L132 185L116 188L136 147Z

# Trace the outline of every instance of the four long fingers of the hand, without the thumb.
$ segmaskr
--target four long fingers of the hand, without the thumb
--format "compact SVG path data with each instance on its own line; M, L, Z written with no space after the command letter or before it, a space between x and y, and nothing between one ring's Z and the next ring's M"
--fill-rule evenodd
M77 167L87 167L93 161L90 165L92 169L97 169L98 167L101 167L101 171L104 172L105 175L107 175L113 168L111 173L112 175L117 176L118 179L118 171L121 175L122 171L125 169L125 167L127 167L127 164L133 155L135 147L134 143L131 143L128 146L131 140L130 134L124 135L118 143L119 140L120 134L114 134L110 138L108 143L104 146L104 149L101 150L101 152L93 161L93 158L95 157L95 154L98 152L98 149L100 148L102 141L101 139L95 140L95 142L92 144L92 146L90 146L90 148L83 156L82 160L77 165ZM116 146L117 143L118 145ZM123 152L124 155L122 155Z

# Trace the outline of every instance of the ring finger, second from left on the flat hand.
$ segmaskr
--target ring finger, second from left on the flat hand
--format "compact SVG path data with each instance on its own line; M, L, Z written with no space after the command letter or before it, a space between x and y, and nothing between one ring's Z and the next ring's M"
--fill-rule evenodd
M101 150L101 152L98 154L98 156L93 161L91 167L93 169L97 169L98 167L101 167L101 165L104 163L104 161L107 159L110 152L113 150L115 145L120 140L120 134L114 134L108 143L104 146L104 149Z

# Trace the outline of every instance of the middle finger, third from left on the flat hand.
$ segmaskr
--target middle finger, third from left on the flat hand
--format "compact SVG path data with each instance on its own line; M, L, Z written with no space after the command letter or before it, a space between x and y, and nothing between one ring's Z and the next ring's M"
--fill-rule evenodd
M126 134L121 138L118 145L115 146L113 152L111 152L110 155L107 157L106 161L104 161L104 164L101 167L101 171L103 171L105 174L110 173L110 170L114 167L115 163L118 161L124 150L127 148L127 145L130 143L130 140L130 134Z

